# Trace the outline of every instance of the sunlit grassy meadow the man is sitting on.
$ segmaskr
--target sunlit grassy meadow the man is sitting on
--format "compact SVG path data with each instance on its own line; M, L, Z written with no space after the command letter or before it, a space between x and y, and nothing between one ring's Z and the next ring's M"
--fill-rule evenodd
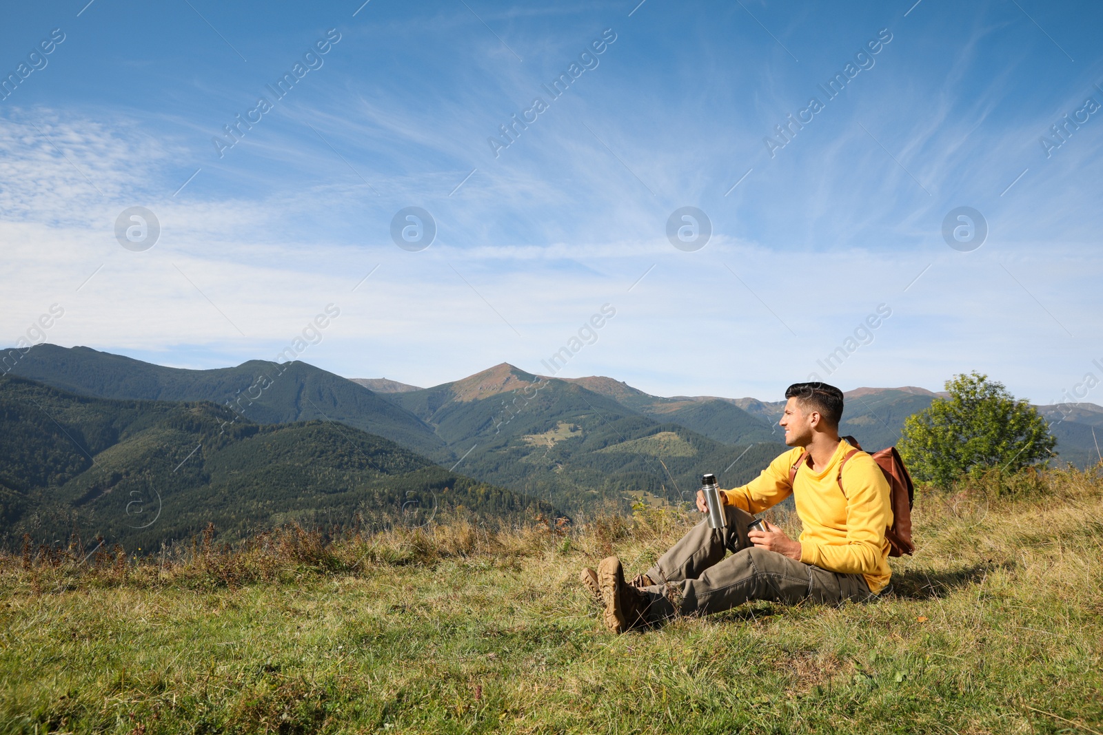
M1103 733L1103 477L1032 485L921 496L896 597L623 636L579 568L699 516L7 558L0 731Z

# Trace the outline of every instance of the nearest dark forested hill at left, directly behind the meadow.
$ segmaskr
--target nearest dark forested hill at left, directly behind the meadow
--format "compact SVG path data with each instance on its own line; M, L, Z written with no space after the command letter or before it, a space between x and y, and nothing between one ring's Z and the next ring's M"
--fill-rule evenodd
M554 514L333 422L255 424L207 402L113 401L0 376L0 532L103 534L143 549L214 522L234 538L306 525Z

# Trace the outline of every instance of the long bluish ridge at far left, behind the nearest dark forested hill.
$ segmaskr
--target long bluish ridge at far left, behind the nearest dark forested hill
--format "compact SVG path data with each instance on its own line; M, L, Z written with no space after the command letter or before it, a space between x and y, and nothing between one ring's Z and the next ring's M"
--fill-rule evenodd
M249 360L237 367L183 370L88 347L38 345L13 375L75 393L113 399L212 401L256 423L339 421L447 462L430 426L363 386L306 363Z

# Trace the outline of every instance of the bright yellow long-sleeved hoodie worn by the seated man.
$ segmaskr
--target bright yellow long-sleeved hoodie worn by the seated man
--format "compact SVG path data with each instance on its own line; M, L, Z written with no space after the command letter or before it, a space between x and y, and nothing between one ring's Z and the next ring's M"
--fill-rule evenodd
M889 583L889 542L885 529L892 523L889 484L874 458L858 452L843 467L843 490L838 466L853 450L846 441L827 466L812 471L812 458L796 471L789 484L789 471L803 450L794 447L742 487L725 490L725 501L750 514L762 512L792 494L801 532L801 561L829 572L861 574L869 591L877 594Z

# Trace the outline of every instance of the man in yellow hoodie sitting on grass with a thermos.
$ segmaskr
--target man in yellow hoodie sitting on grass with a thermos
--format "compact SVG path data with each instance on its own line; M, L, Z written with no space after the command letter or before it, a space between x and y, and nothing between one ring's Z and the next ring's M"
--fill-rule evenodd
M779 423L785 444L794 448L747 485L720 491L726 528L710 529L706 518L631 583L624 582L617 556L602 560L597 572L582 570L610 630L718 613L749 599L838 605L871 599L888 587L889 484L872 457L839 439L843 392L823 382L799 382L785 398ZM748 532L752 514L790 495L804 526L799 540L772 523ZM702 491L697 509L706 510ZM727 550L733 553L725 559Z

